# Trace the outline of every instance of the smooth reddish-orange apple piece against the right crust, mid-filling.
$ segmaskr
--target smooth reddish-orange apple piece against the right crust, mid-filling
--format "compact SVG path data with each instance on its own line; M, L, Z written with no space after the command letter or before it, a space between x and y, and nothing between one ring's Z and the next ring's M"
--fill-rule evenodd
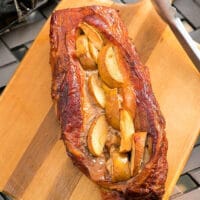
M135 119L136 112L136 97L134 88L131 85L121 88L122 94L122 107L129 111L132 118Z

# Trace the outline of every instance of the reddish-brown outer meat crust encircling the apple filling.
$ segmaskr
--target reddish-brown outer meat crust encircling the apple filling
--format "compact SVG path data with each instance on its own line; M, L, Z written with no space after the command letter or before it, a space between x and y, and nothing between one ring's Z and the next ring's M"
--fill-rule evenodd
M146 130L153 138L150 161L127 181L112 183L105 160L88 151L83 109L85 74L75 54L81 22L96 27L119 48L135 88L136 129ZM162 199L168 170L165 120L153 94L148 69L141 63L117 11L104 6L58 10L53 13L50 25L52 98L62 139L73 163L101 187L103 199Z

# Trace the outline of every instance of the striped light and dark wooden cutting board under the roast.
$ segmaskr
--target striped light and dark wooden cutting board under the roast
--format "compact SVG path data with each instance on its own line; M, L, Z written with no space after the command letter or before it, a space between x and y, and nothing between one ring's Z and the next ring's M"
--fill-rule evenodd
M63 0L57 9L108 5ZM118 7L117 5L112 5ZM200 130L200 76L150 2L120 7L167 122L168 199ZM0 190L24 200L100 200L98 188L74 167L60 140L50 97L49 20L0 97Z

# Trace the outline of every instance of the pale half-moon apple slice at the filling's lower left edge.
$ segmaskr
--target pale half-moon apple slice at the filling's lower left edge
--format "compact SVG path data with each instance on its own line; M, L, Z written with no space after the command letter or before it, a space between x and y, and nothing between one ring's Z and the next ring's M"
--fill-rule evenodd
M108 125L104 115L96 118L88 132L88 148L94 156L100 156L106 142Z

